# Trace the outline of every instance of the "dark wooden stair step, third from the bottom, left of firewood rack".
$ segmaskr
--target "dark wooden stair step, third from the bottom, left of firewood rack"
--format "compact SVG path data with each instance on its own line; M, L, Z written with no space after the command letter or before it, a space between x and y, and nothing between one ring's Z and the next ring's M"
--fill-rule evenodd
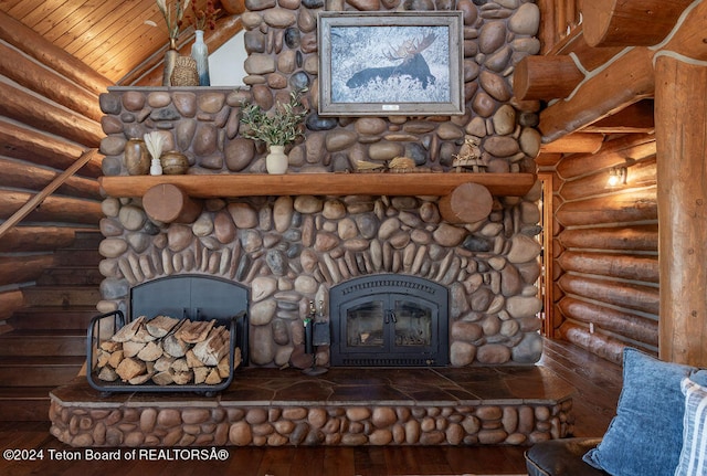
M21 329L0 336L0 357L85 355L86 331L82 329Z

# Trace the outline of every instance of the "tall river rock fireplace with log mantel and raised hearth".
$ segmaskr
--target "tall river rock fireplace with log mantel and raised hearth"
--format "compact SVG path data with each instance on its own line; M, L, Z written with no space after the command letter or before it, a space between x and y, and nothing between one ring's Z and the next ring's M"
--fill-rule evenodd
M525 0L358 2L359 10L462 11L465 113L320 117L317 12L354 7L245 6L249 87L113 87L101 96L98 310L134 315L133 289L172 277L233 284L247 302L247 368L209 399L96 401L85 381L57 389L52 434L74 446L566 436L571 389L534 366L542 352L539 104L514 101L511 88L514 66L539 52L538 8ZM305 137L286 150L286 176L264 174L266 151L243 137L240 109L244 102L272 109L303 87L312 110ZM187 156L186 176L129 174L126 144L151 131ZM455 158L464 147L474 160L462 167ZM398 157L414 169L388 170ZM379 171L366 173L361 162ZM472 194L452 207L454 188L468 183L487 202L477 209ZM148 207L155 195L170 197L158 209L178 202L179 213L156 213ZM316 366L328 368L321 377L300 371L313 364L303 321L312 306L328 330L312 349Z

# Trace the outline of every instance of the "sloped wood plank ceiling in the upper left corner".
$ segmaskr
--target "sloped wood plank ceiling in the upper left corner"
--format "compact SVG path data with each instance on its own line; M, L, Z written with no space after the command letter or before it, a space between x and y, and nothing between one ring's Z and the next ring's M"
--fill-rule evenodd
M207 0L194 2L202 9ZM0 11L116 84L129 81L168 44L167 27L155 0L0 0ZM191 36L191 28L184 29L178 45Z

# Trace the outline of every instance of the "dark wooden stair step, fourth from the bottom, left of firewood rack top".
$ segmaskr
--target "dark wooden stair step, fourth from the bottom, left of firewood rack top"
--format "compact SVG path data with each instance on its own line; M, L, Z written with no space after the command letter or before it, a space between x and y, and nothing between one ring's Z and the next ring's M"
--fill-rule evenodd
M9 319L14 329L88 329L91 318L99 314L96 306L63 307L28 307L15 310Z

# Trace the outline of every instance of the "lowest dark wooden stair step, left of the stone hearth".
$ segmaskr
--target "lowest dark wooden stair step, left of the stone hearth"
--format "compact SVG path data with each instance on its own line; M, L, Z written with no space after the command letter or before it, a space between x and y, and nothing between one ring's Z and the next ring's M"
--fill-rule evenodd
M0 387L0 421L45 422L53 387Z

